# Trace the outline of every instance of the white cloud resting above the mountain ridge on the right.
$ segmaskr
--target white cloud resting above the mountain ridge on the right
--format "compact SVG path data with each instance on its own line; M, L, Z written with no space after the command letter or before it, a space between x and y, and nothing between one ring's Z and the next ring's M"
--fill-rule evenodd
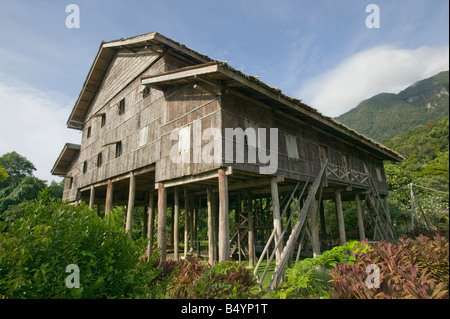
M378 93L398 93L449 69L449 47L389 46L359 52L304 84L297 96L325 115L338 116Z

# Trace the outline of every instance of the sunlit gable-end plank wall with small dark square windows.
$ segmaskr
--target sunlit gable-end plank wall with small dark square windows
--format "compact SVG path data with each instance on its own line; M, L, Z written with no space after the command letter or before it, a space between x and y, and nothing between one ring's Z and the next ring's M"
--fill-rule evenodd
M152 89L144 97L140 80L141 75L166 71L165 60L158 57L150 52L133 54L123 51L114 58L86 117L80 156L68 173L69 178L73 177L73 189L124 174L159 159L164 95ZM125 99L125 113L120 115L118 106L122 99ZM100 116L92 117L101 113L106 115L103 127ZM89 138L88 127L91 127ZM122 155L116 158L115 142L119 141L122 142ZM100 152L102 165L97 167ZM87 163L86 173L83 173L84 162ZM63 199L71 200L73 197L74 191L71 191Z

